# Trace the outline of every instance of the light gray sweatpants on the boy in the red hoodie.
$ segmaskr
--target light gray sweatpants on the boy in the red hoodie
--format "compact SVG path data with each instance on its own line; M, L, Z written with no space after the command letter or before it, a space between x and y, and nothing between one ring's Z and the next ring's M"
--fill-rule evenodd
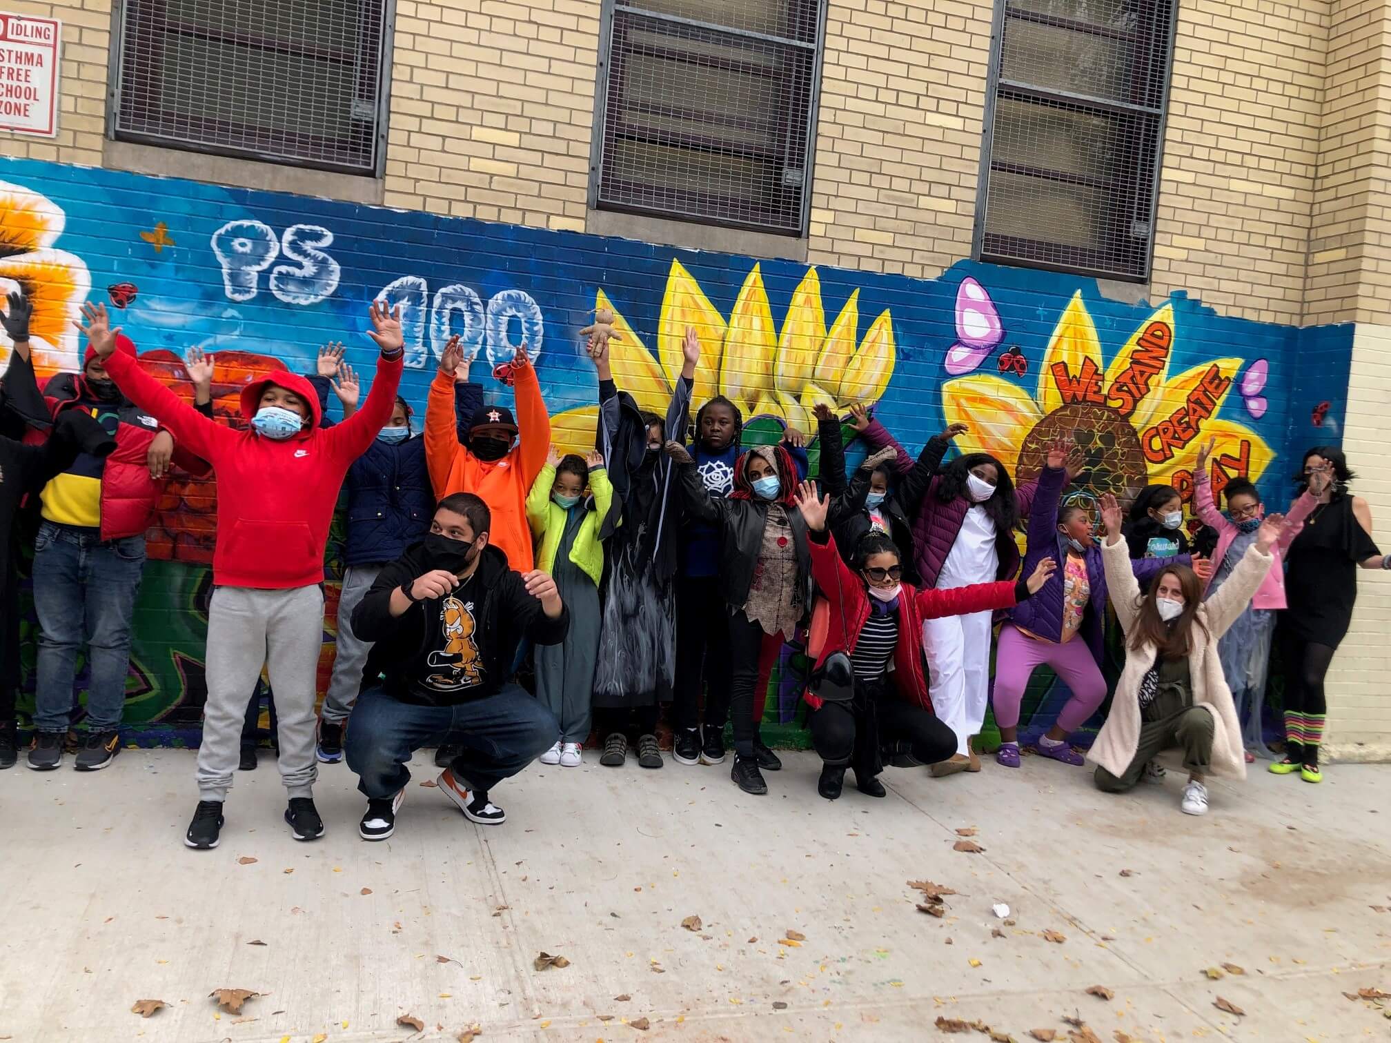
M242 720L262 665L275 694L280 777L291 797L312 797L314 688L324 640L324 592L312 587L217 587L207 608L207 705L198 748L199 800L221 801L241 759Z

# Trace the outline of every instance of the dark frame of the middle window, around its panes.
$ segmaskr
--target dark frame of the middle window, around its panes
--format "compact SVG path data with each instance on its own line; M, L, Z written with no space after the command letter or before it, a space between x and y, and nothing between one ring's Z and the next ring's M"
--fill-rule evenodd
M771 235L786 235L790 238L805 238L811 218L812 167L815 164L822 57L826 36L826 10L829 6L828 0L814 0L814 3L815 11L805 18L804 26L805 35L810 35L811 39L798 40L790 36L773 36L751 29L732 28L718 25L715 22L704 22L652 11L643 7L643 0L604 0L600 15L600 54L597 89L594 95L594 134L590 156L590 209L643 214L670 221L718 225L723 228L744 228ZM632 113L634 106L632 103L625 104L623 102L623 95L620 93L622 82L619 76L613 74L615 61L622 60L620 56L640 53L637 49L627 45L627 31L630 25L641 21L680 28L693 33L696 39L709 42L729 42L732 39L757 40L773 47L786 49L789 51L803 51L810 60L810 76L804 81L801 90L794 92L790 89L791 85L797 82L797 78L791 75L793 67L789 63L779 64L775 72L769 74L782 75L785 81L790 81L787 90L790 99L789 111L796 110L800 113L800 117L785 120L771 115L759 120L751 115L730 117L726 114L709 113L711 115L718 115L721 122L741 129L768 127L779 129L778 143L762 147L714 135L707 139L693 139L690 135L662 135L661 132L644 129L633 122L623 122L622 114L625 111ZM648 46L641 50L651 51L652 47ZM682 53L676 38L673 38L673 46L670 47L670 57L693 65L723 67L729 64L727 57L722 60L702 60L698 54L689 51ZM755 68L753 64L750 65L750 71L762 72L762 70ZM793 106L791 102L796 102L796 106ZM694 106L687 107L676 103L648 104L643 108L647 114L668 118L701 114L701 111ZM611 138L622 138L626 140L651 143L657 146L669 145L680 147L696 145L698 149L711 156L750 157L776 163L782 159L787 159L790 139L794 134L801 135L801 184L800 186L790 186L786 185L786 182L782 185L782 188L800 193L794 207L768 206L761 210L755 210L750 206L750 197L680 192L679 189L665 188L661 185L627 181L620 177L615 177L606 165L612 156L612 152L608 147ZM698 209L689 206L693 200L697 203ZM683 203L686 203L686 206L683 206ZM743 217L727 216L727 211L739 209L746 211ZM725 213L722 214L719 211Z

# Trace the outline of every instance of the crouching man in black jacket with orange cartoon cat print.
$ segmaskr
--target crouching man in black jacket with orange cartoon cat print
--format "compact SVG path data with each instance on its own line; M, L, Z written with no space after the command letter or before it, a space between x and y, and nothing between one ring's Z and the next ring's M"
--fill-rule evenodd
M551 711L508 672L523 637L561 644L570 616L549 576L513 572L488 545L491 524L479 496L445 496L430 533L383 569L352 613L353 633L376 642L344 741L367 795L363 840L385 840L395 829L416 750L460 748L440 775L440 791L470 820L497 825L506 814L488 791L559 734Z

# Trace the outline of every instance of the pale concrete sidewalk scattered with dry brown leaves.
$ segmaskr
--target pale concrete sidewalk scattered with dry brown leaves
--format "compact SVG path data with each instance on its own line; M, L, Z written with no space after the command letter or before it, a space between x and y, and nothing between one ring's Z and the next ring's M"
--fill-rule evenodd
M727 763L586 757L501 787L495 827L421 787L421 759L380 844L357 839L364 805L342 765L317 787L327 834L294 841L263 759L206 852L182 846L189 752L4 772L0 1039L455 1040L477 1024L483 1043L881 1043L950 1040L943 1017L1024 1043L1035 1028L1066 1040L1064 1015L1106 1043L1391 1037L1373 1003L1344 997L1391 992L1391 766L1308 786L1256 765L1189 818L1173 776L1106 797L1039 758L942 780L889 769L887 800L847 786L828 804L810 754L787 755L762 798ZM953 850L965 827L982 854ZM960 894L932 918L908 880ZM570 965L537 972L541 951ZM1205 976L1223 964L1244 973ZM1096 985L1114 998L1086 994ZM220 987L263 996L218 1015ZM168 1008L142 1019L140 998Z

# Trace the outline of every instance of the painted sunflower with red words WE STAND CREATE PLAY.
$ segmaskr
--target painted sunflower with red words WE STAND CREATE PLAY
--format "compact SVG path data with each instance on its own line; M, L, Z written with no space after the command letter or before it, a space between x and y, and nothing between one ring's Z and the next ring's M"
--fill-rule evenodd
M1244 360L1210 359L1170 375L1178 334L1166 305L1107 364L1096 324L1074 293L1049 338L1034 394L989 374L942 387L947 423L970 428L957 446L988 452L1028 481L1053 441L1074 441L1086 455L1084 490L1111 492L1127 505L1149 484L1174 485L1188 501L1198 448L1209 438L1217 441L1214 492L1238 476L1259 480L1274 453L1259 434L1221 416Z

